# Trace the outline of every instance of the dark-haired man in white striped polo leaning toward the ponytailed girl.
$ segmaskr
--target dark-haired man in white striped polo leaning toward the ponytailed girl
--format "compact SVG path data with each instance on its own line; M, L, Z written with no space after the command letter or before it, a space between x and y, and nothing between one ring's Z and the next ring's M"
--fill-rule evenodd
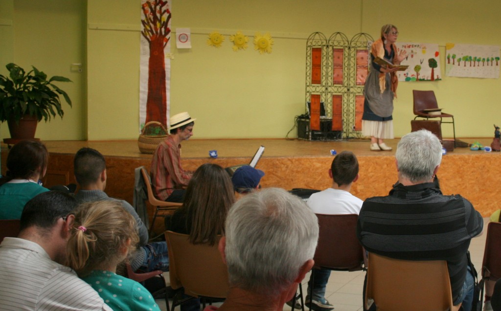
M60 191L28 201L19 236L0 244L0 309L111 311L89 284L61 264L76 206Z

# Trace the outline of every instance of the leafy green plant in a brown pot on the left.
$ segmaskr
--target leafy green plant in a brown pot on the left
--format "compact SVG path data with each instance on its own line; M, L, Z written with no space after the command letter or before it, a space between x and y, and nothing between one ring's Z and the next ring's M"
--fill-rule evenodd
M34 138L42 118L47 122L56 114L63 117L60 95L71 106L68 94L52 82L71 80L57 75L48 79L47 74L35 66L28 72L12 62L6 67L9 76L0 74L0 122L7 121L13 139ZM23 133L24 130L28 132Z

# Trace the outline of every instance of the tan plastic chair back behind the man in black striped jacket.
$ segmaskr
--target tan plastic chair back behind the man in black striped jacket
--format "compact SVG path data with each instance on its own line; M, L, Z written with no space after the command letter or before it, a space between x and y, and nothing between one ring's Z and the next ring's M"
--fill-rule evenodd
M365 309L445 311L452 305L445 260L400 260L369 253Z

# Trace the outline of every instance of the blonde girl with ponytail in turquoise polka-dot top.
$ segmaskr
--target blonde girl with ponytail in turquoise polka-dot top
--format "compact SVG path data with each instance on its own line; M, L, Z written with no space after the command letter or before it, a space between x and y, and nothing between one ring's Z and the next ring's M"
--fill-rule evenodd
M136 248L136 222L118 201L81 204L68 240L68 265L114 310L156 310L140 283L116 274L117 265Z

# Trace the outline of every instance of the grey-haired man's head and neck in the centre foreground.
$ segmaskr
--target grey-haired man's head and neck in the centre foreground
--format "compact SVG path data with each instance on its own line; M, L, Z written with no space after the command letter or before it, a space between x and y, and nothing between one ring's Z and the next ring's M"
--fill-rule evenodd
M267 188L230 208L225 232L219 250L230 290L219 310L282 310L314 264L318 220L311 208L283 189Z

